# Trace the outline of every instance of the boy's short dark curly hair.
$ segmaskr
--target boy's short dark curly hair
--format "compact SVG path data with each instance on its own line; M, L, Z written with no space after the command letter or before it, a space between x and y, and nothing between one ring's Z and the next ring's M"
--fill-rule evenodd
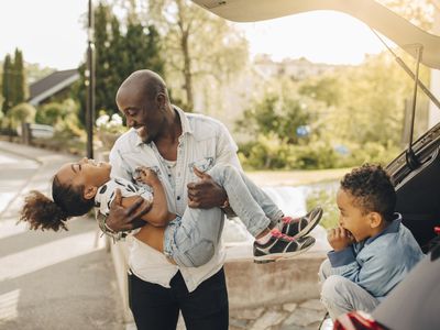
M364 164L352 169L342 178L341 188L355 198L363 213L377 212L386 221L393 220L396 190L381 165Z

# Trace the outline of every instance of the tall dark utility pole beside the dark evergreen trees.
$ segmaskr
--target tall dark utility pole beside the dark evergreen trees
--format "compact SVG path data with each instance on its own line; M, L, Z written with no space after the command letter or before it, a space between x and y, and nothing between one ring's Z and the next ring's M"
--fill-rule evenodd
M95 125L95 20L92 0L88 0L88 26L87 26L87 107L86 107L86 129L87 129L87 157L94 158L94 125Z

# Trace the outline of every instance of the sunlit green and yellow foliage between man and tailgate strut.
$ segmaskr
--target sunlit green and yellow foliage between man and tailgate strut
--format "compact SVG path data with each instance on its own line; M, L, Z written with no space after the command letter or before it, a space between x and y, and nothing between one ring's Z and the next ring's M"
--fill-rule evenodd
M410 56L403 57L410 65ZM424 67L420 77L428 80ZM277 153L276 162L270 162L276 168L386 164L402 150L405 102L411 98L414 82L388 54L370 56L360 66L278 85L270 81L267 90L278 92L266 92L237 122L238 129L253 141L260 141L260 135L276 136L280 144L287 144L272 151L276 153L280 147L284 151ZM306 105L305 113L299 105ZM292 134L298 125L311 128L310 134L306 138ZM242 158L253 169L267 168L263 152L255 152L258 150L253 146L255 143L241 146ZM267 146L264 150L270 152Z

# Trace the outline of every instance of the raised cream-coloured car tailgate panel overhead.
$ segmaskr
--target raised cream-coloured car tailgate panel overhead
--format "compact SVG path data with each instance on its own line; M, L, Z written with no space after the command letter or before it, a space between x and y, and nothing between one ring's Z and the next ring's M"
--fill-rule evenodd
M440 69L440 36L411 24L373 0L193 0L210 12L235 22L255 22L316 10L333 10L359 19L416 57L422 46L421 63ZM326 26L317 26L326 29Z

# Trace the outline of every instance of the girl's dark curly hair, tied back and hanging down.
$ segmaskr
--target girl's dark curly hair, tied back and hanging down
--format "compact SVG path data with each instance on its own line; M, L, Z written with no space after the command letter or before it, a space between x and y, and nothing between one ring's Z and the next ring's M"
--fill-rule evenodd
M20 220L30 223L33 230L67 230L66 221L82 216L94 207L94 198L82 197L84 186L62 185L55 176L52 182L51 200L42 193L32 190L24 199Z

